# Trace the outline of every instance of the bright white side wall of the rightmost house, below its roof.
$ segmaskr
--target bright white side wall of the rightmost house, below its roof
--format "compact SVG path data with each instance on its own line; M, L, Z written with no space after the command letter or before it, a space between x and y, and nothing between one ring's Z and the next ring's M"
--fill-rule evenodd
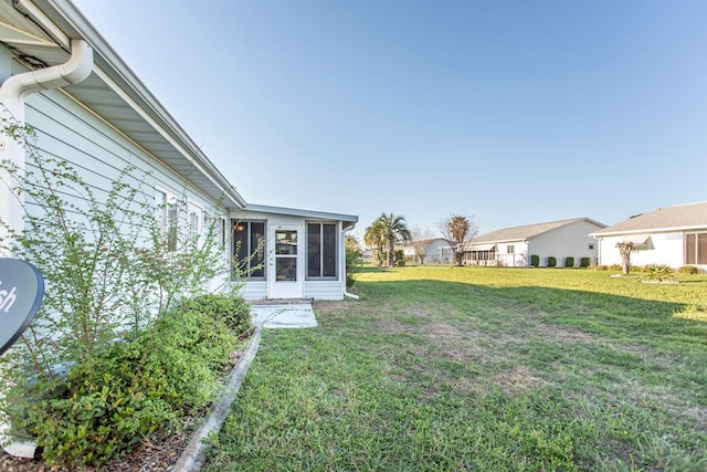
M672 268L685 265L685 243L682 231L601 237L598 241L599 263L601 265L621 264L616 243L626 240L643 242L647 238L651 238L647 248L639 248L631 252L631 265L666 264Z

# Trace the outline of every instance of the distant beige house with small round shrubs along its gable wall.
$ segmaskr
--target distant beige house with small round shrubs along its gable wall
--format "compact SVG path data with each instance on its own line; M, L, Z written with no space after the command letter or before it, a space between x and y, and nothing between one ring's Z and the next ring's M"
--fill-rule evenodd
M589 218L551 221L525 227L505 228L478 238L467 244L464 263L467 265L499 265L529 268L530 256L539 258L539 265L547 266L548 258L564 266L566 258L597 260L597 241L589 233L605 228Z

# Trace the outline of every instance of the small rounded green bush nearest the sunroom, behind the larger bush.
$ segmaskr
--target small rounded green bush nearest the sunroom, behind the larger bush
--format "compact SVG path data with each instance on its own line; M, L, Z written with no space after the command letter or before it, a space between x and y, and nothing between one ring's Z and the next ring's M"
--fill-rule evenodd
M240 296L200 295L183 302L181 311L193 311L225 323L236 335L242 336L252 331L251 306Z

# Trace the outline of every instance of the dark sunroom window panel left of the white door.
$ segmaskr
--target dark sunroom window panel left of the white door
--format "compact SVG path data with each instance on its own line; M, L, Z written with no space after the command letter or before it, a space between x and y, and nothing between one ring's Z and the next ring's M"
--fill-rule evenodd
M233 255L236 276L265 279L265 223L236 221L233 224Z

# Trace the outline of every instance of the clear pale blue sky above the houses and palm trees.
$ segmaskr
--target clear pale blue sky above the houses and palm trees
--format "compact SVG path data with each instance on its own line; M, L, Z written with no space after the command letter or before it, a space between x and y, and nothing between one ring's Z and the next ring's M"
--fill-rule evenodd
M701 0L74 3L252 203L362 235L707 200Z

